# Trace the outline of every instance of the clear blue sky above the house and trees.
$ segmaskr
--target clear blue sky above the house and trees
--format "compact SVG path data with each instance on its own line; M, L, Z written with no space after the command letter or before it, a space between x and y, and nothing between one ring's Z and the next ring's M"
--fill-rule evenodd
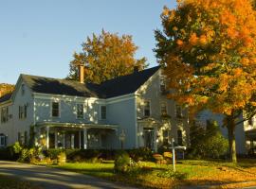
M74 51L102 28L133 35L137 58L154 66L154 29L165 5L174 8L175 0L0 1L0 83L21 73L66 77Z

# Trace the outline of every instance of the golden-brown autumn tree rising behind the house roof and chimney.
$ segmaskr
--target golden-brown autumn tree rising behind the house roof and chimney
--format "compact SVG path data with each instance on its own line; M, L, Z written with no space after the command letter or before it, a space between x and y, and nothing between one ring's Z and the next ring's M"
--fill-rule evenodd
M102 30L99 36L87 37L82 52L74 53L68 78L77 79L79 64L84 65L84 81L93 83L131 74L135 66L142 70L147 66L146 58L137 60L136 51L132 36Z

